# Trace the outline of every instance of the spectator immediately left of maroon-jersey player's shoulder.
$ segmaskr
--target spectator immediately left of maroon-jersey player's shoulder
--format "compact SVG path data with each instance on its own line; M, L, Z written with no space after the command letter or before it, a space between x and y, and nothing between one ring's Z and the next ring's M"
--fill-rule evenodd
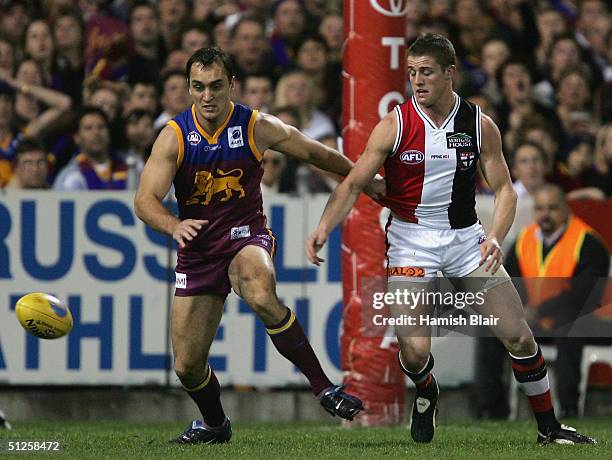
M144 164L151 154L155 141L154 118L146 110L134 110L125 117L125 139L127 149L119 157L127 166L128 190L136 190Z

